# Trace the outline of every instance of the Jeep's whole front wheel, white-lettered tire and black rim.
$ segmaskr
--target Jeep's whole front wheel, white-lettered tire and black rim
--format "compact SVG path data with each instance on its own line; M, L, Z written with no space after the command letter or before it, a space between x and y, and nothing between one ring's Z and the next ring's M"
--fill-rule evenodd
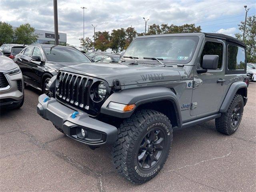
M116 170L130 182L142 184L164 166L172 144L172 125L164 114L141 110L125 119L112 146Z

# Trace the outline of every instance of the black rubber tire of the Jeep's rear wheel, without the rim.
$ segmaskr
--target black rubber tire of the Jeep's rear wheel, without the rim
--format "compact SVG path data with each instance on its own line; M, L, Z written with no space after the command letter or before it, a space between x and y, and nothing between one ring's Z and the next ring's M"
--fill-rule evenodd
M231 126L232 114L233 114L234 108L238 104L241 108L240 118L238 119L236 126L232 127ZM215 119L215 126L217 131L226 135L231 135L234 132L236 132L242 120L243 111L244 111L243 97L240 94L236 94L232 99L232 102L230 103L230 106L228 107L227 112L222 113L222 115L219 118Z

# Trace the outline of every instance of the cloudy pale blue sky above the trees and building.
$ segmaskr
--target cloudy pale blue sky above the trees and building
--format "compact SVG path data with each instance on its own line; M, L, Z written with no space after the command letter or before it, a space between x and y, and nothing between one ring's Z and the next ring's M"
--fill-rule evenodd
M148 24L191 24L201 26L202 32L234 36L238 24L245 18L244 5L250 8L248 16L256 15L256 0L58 0L58 30L67 34L67 43L79 47L83 37L83 10L85 37L96 31L133 26L144 32L144 18ZM30 23L39 30L54 31L53 0L0 0L0 21L12 26Z

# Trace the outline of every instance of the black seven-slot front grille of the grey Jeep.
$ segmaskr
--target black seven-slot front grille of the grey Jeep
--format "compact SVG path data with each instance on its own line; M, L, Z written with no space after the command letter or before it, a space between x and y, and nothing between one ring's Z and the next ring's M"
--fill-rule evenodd
M60 80L60 84L56 89L58 100L71 106L89 109L92 78L69 72L59 72L57 80Z

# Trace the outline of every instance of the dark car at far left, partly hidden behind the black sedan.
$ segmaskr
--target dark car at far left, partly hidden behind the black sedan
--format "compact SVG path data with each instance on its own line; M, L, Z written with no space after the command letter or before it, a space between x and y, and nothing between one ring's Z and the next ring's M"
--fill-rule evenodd
M14 57L19 54L25 47L26 46L22 44L3 44L0 47L0 52L14 60Z

